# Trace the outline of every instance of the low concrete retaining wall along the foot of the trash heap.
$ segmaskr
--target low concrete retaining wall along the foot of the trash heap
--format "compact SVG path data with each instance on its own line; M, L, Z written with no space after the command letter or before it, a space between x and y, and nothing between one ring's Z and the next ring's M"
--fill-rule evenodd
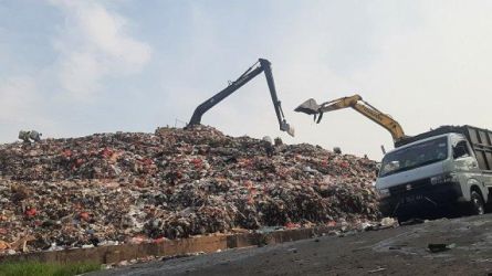
M335 230L335 227L318 226L312 229L274 231L269 233L209 235L172 241L167 240L158 243L122 244L54 252L33 252L19 255L0 256L0 262L96 262L101 264L113 264L121 261L147 256L175 256L198 252L211 253L219 250L223 251L228 248L262 246L268 244L292 242L326 234L333 230Z

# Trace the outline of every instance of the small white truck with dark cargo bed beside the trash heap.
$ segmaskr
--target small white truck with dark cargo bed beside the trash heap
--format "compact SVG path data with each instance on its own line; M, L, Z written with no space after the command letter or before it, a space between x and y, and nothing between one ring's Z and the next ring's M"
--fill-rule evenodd
M492 193L492 131L444 126L395 144L376 180L384 215L399 221L447 208L483 214Z

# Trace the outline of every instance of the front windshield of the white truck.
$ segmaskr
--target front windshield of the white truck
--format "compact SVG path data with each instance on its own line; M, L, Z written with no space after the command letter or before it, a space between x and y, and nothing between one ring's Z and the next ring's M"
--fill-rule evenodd
M448 158L448 138L441 137L392 151L383 158L379 177L411 170Z

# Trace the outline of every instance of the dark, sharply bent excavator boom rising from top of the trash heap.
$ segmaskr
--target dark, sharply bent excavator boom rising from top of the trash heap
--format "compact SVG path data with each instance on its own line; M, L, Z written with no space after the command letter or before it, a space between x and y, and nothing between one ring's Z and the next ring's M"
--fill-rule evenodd
M257 64L259 65L257 66ZM210 108L222 102L224 98L230 96L237 89L239 89L244 84L247 84L248 82L250 82L251 79L253 79L255 76L258 76L263 72L266 78L266 83L269 85L270 95L272 97L273 107L275 109L275 115L279 120L280 130L286 131L289 135L294 136L294 128L286 123L285 116L282 110L281 102L276 96L275 83L273 81L272 68L270 65L271 63L268 60L260 59L255 64L253 64L253 66L248 68L238 79L230 83L228 87L226 87L211 98L207 99L206 102L201 103L195 109L193 115L191 116L191 119L187 125L187 127L199 125L201 123L201 117L203 116L205 113L207 113Z

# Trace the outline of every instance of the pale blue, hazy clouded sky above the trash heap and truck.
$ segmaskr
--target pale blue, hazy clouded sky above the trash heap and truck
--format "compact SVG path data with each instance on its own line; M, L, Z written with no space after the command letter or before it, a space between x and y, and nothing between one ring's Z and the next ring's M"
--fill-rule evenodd
M316 125L293 109L359 94L407 135L492 129L491 12L486 0L0 0L0 142L182 127L262 57L295 137L279 130L263 75L202 124L377 160L391 136L360 114Z

